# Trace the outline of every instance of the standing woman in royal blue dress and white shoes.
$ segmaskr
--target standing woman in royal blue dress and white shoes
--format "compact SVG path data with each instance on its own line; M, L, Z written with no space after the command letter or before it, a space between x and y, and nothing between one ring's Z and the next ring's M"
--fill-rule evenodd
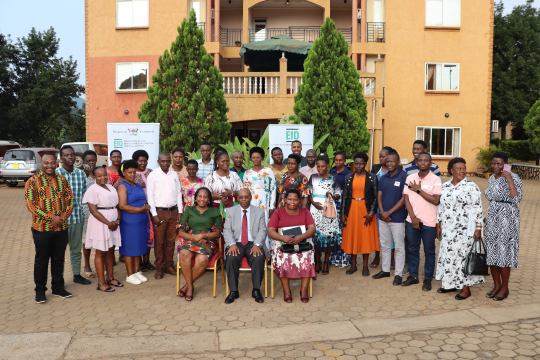
M150 211L150 205L146 203L144 189L135 182L137 166L137 162L134 160L127 160L122 163L119 173L123 181L118 187L118 207L122 215L120 222L120 234L122 235L120 255L124 256L126 263L126 282L134 285L139 285L148 280L143 276L139 265L141 256L146 255L148 252L147 229L148 211Z

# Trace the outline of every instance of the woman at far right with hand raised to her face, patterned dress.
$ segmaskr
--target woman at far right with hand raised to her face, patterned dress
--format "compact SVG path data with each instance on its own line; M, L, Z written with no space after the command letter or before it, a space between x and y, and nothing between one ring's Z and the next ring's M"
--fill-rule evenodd
M508 297L510 268L518 267L519 209L523 199L523 183L519 176L504 170L508 155L496 152L491 160L493 175L484 196L489 200L486 216L487 264L495 287L486 296L496 301Z

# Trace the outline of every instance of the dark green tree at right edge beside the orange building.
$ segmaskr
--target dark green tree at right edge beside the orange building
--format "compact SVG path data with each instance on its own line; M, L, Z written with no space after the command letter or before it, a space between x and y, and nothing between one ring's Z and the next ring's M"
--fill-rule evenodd
M491 117L522 128L540 93L540 9L527 0L504 15L500 2L494 21Z

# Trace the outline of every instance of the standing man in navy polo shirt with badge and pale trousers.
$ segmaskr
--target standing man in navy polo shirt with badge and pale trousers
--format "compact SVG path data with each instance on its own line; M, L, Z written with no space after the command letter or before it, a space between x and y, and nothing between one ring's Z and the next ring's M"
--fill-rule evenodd
M378 204L380 211L379 239L381 243L382 271L373 275L374 279L390 277L392 239L396 247L396 271L394 285L400 285L405 265L405 196L403 188L407 174L399 168L399 154L390 151L386 156L388 173L379 180Z

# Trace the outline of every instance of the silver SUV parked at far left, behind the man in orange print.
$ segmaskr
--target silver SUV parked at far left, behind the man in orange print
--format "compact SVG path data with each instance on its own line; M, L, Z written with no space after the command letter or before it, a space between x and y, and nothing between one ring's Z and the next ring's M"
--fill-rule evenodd
M15 187L19 182L25 182L41 170L41 157L45 152L58 154L58 149L24 148L6 151L0 163L0 174L4 182Z

